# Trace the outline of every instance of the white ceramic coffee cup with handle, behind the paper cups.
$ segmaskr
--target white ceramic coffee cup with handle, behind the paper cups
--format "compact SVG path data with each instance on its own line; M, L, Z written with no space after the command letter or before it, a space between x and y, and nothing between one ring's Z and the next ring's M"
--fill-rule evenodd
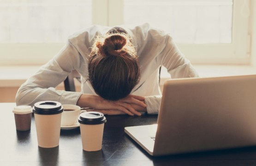
M80 113L86 112L86 110L83 110L85 108L72 104L64 104L62 107L63 113L61 115L61 127L79 125L78 116Z

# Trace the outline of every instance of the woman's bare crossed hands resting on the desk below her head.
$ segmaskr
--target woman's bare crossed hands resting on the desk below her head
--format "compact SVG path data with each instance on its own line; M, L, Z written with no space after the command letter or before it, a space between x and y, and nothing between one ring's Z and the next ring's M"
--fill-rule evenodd
M140 116L142 108L146 108L146 104L143 102L145 98L143 96L128 95L124 99L118 101L108 101L101 98L98 95L83 94L77 101L77 105L80 107L90 107L94 111L101 112L103 114L128 114L133 116ZM141 110L136 110L137 108ZM146 109L145 109L146 110Z

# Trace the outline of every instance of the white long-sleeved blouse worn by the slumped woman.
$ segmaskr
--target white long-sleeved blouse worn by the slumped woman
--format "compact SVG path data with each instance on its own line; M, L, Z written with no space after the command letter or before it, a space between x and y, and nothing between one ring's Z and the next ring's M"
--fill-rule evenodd
M161 102L159 67L165 66L172 78L198 77L190 61L179 51L173 38L150 27L122 25L132 38L139 56L141 79L131 94L145 96L148 113L158 113ZM59 101L62 104L77 104L84 94L95 94L88 78L88 58L95 36L104 34L112 27L94 25L69 37L66 45L53 59L31 76L18 89L17 105L33 106L38 101ZM81 75L81 92L56 90L72 70Z

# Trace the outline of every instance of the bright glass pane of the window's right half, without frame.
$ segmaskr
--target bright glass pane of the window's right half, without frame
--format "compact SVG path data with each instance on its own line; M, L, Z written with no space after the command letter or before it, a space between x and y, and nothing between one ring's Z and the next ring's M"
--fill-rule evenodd
M124 23L149 22L179 43L231 43L232 5L232 0L124 0Z

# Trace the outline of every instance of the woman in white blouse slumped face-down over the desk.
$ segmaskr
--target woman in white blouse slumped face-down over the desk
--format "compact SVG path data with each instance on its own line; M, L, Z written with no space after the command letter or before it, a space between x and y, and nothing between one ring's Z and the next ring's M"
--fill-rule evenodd
M18 89L16 103L51 100L104 114L158 113L161 65L172 78L198 77L169 34L149 24L95 25L71 36L65 47ZM72 70L81 75L81 93L53 88Z

